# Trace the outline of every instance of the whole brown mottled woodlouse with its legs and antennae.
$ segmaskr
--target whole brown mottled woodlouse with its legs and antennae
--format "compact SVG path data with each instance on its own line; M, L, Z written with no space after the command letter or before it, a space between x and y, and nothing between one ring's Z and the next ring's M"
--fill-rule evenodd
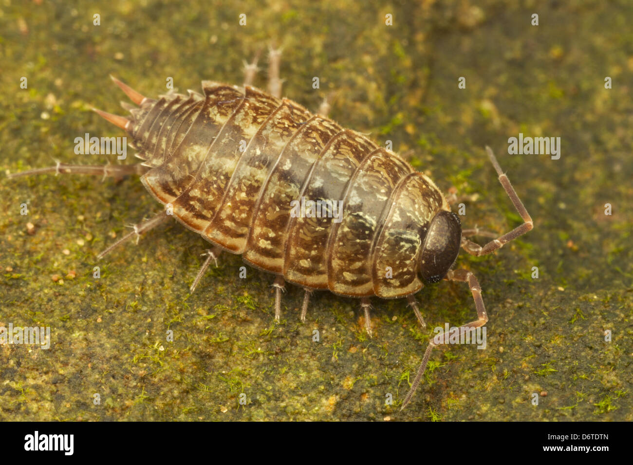
M137 106L123 104L129 118L95 111L130 135L142 163L58 163L10 176L140 175L165 211L135 225L98 257L173 216L213 244L191 292L220 252L241 254L251 266L277 275L278 321L287 281L305 290L302 321L311 292L330 290L361 299L369 335L372 296L406 297L425 327L413 295L424 282L444 279L467 282L477 309L477 319L450 332L483 326L488 317L477 278L471 271L451 269L460 247L486 255L533 227L491 149L486 147L499 182L523 219L499 237L478 228L462 230L434 182L398 155L282 99L279 52L272 51L270 61L270 93L251 86L256 63L246 65L243 87L203 81L203 94L170 92L158 99L144 97L113 77ZM328 214L292 214L299 199L312 202L310 211L316 205ZM333 202L340 202L337 218L331 214ZM475 235L494 239L482 247L467 239ZM402 408L420 384L434 347L430 340Z

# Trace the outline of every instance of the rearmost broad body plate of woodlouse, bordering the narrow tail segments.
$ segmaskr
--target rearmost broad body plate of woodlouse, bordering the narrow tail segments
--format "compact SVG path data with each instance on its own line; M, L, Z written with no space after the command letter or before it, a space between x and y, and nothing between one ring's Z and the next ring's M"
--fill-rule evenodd
M244 98L238 87L216 82L203 82L203 90L203 107L173 158L141 177L145 187L164 204L173 202L191 185L211 142Z

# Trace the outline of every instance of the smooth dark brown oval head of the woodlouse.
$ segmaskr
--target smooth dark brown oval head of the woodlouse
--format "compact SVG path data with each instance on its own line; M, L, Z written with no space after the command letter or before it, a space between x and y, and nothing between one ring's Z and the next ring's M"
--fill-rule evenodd
M440 211L433 217L424 240L420 275L427 283L437 283L451 269L461 244L460 217L450 211Z

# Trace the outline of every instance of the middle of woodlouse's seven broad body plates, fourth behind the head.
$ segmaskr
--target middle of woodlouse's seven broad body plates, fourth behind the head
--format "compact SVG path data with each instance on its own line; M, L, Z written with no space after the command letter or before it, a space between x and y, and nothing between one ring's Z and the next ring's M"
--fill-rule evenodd
M340 131L334 121L314 116L285 146L254 208L245 261L272 273L283 273L291 202L301 197L301 187L323 147Z

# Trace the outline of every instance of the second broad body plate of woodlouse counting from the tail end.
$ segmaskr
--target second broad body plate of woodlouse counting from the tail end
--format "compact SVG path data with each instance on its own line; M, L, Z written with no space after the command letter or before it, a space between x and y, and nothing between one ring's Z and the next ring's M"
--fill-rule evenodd
M173 202L173 214L181 223L196 232L209 226L242 155L242 141L248 144L280 103L279 99L246 86L246 98L211 144L195 182Z

